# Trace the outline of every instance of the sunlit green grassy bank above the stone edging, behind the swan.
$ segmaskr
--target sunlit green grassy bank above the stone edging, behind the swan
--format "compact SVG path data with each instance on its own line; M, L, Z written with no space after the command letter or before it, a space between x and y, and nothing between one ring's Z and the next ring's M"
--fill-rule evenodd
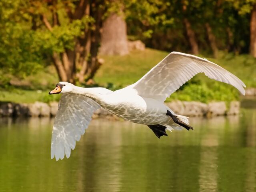
M112 90L122 88L140 79L150 68L155 66L168 52L146 49L133 51L126 56L101 56L105 62L98 70L95 81L98 86ZM237 75L248 87L256 87L256 59L248 55L234 56L222 54L218 59L208 60L219 64ZM55 69L51 66L39 71L38 74L26 80L13 80L17 86L0 89L0 101L11 102L50 102L58 100L59 96L49 96L48 92L58 82ZM239 98L238 91L224 83L210 80L203 74L198 74L188 81L168 100L211 100L230 101Z

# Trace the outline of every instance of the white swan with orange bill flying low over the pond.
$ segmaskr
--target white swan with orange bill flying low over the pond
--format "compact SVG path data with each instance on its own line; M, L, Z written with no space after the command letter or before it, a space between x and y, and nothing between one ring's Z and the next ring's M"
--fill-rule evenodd
M188 118L175 114L164 101L198 73L230 84L245 94L245 84L232 73L206 59L180 52L171 52L136 83L114 92L59 82L49 92L63 94L52 131L51 158L70 157L71 149L74 150L100 106L125 120L147 125L158 138L167 136L166 129L193 130Z

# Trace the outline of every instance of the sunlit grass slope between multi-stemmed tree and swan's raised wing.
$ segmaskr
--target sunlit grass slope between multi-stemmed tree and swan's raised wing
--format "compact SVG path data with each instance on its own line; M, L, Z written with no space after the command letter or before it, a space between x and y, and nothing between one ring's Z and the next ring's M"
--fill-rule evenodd
M124 87L139 80L168 53L153 49L133 51L125 56L101 56L105 62L97 71L95 81L104 86Z

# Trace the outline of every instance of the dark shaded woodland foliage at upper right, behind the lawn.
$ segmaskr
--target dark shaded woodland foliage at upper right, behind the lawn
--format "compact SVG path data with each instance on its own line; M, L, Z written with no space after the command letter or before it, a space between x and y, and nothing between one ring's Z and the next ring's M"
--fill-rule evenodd
M211 54L205 28L212 28L220 50L248 53L250 12L255 0L123 0L128 35L143 40L148 47L190 51L184 26L186 18L204 54ZM119 2L120 3L120 2Z

